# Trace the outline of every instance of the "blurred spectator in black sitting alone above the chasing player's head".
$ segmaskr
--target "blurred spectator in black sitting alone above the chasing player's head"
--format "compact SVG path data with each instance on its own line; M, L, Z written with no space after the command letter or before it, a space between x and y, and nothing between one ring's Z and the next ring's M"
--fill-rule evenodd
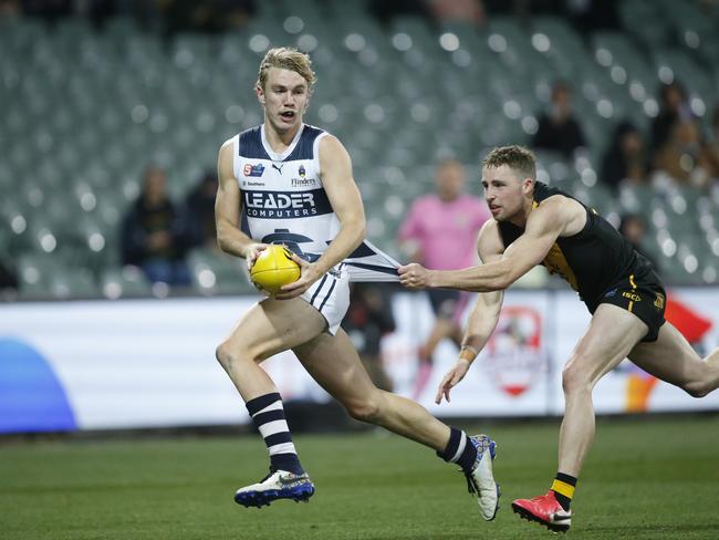
M532 145L559 152L565 158L571 158L574 150L586 146L582 127L572 114L572 91L564 82L558 82L552 87L550 111L540 114Z

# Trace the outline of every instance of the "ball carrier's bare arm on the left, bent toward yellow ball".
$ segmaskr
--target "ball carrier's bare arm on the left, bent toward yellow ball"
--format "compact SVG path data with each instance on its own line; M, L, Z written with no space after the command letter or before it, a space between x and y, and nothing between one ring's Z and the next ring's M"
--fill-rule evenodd
M232 169L232 141L227 141L217 157L217 177L219 185L215 198L215 224L217 226L217 245L226 253L247 259L248 269L262 249L258 243L239 229L242 200L240 188Z

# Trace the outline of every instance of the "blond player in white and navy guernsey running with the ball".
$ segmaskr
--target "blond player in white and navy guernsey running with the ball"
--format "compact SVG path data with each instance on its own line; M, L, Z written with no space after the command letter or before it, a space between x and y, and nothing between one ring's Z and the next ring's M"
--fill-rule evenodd
M218 157L220 248L251 268L267 245L283 243L301 267L295 282L254 304L217 347L270 455L270 474L239 489L235 500L261 507L281 498L308 500L314 492L292 443L282 397L260 367L273 354L292 350L353 417L458 464L468 489L477 494L481 516L491 520L499 508L494 442L450 428L417 403L376 388L340 328L350 302L348 280L396 281L398 264L363 240L364 209L342 143L302 121L313 83L306 54L270 50L256 86L264 123L227 141ZM378 264L383 259L385 266Z

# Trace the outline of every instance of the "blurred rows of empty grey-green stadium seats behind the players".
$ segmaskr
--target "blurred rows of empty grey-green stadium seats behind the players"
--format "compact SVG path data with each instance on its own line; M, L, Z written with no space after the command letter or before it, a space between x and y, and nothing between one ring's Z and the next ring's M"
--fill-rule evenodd
M102 281L111 269L118 272L117 232L145 167L166 166L173 197L183 198L213 166L222 141L261 122L252 85L262 54L294 43L312 49L321 81L308 121L348 148L371 238L385 249L394 247L407 205L433 189L438 158L473 166L484 149L528 143L552 82L563 76L574 91L588 156L580 165L540 152L539 169L553 185L583 190L603 214L639 212L655 236L666 228L685 246L682 261L698 252L701 273L711 261L685 229L706 245L709 229L698 220L706 224L719 206L701 210L695 194L663 198L647 186L615 196L579 180L587 167L596 172L618 121L646 132L667 69L706 122L719 105L719 11L674 0L626 0L617 9L624 30L591 35L553 15L492 13L479 29L403 14L378 21L365 0L259 2L240 31L168 41L124 17L102 30L87 19L60 19L52 29L37 19L3 19L0 103L10 106L0 131L7 232L0 248L42 258L54 246L53 257L84 269L81 274L92 270ZM457 37L457 50L450 37L440 43L445 33ZM681 200L686 208L678 211ZM681 224L687 219L694 225ZM670 257L684 264L678 251ZM192 259L198 272L215 276L206 292L225 283L228 291L247 290L241 279L236 284L237 269L215 259ZM686 279L691 272L682 269L677 276ZM31 289L53 294L49 281L25 282L25 292ZM91 289L83 278L70 278L55 292Z

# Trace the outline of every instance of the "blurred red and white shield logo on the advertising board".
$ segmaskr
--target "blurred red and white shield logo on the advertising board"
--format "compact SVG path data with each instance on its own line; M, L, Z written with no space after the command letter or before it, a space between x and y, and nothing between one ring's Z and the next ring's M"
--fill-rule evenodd
M546 364L539 312L524 307L502 309L486 351L483 366L502 392L517 397L530 390Z

